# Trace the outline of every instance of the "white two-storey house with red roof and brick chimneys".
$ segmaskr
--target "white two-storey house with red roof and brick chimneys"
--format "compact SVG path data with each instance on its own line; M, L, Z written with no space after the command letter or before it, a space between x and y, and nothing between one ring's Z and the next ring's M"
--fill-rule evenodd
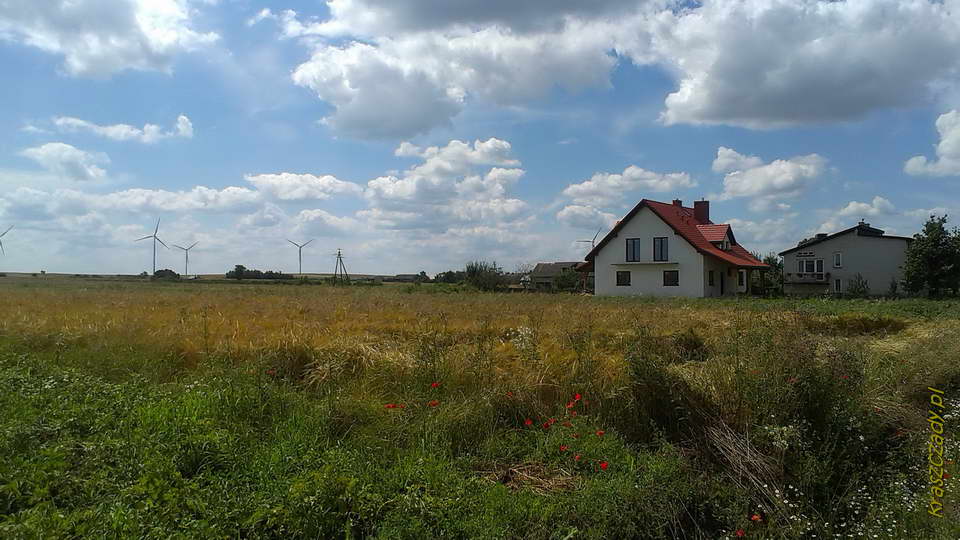
M737 243L730 225L693 208L643 199L587 255L602 296L730 296L749 292L750 272L769 267Z

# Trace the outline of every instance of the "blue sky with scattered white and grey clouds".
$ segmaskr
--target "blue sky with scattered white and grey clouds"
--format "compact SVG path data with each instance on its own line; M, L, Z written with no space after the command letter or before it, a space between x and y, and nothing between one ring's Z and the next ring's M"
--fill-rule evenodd
M960 0L0 0L0 271L510 271L643 198L958 224Z

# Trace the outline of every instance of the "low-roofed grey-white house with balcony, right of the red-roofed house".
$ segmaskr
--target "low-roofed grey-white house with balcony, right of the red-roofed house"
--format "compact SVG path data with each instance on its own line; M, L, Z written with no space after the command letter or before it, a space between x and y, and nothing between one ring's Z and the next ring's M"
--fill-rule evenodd
M843 294L860 274L870 294L884 294L890 282L903 279L903 264L912 238L883 234L860 222L833 234L820 233L781 251L786 294Z

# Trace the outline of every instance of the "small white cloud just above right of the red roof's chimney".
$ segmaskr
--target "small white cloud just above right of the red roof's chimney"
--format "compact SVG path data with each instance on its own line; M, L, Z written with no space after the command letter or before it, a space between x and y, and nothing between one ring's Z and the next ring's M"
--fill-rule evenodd
M750 209L762 212L789 208L785 201L805 193L823 173L826 163L823 157L809 154L763 164L755 156L744 156L720 147L713 168L730 171L723 178L720 200L749 197ZM746 168L731 170L732 167Z

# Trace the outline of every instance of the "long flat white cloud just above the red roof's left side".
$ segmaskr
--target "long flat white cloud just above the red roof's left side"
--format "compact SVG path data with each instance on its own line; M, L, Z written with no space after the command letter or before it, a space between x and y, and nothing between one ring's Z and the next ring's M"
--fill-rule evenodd
M566 197L580 205L603 206L637 191L668 192L691 188L697 183L685 172L657 173L631 165L623 173L596 173L589 180L570 184Z

